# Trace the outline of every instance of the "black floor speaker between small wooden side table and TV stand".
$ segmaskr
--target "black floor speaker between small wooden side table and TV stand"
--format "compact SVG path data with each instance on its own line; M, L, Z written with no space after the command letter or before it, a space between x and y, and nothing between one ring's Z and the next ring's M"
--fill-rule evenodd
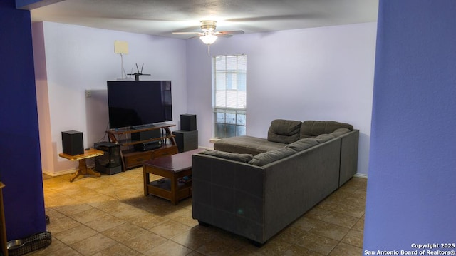
M98 142L93 148L102 150L104 155L95 157L95 170L108 175L122 171L122 160L120 159L120 145L112 142Z

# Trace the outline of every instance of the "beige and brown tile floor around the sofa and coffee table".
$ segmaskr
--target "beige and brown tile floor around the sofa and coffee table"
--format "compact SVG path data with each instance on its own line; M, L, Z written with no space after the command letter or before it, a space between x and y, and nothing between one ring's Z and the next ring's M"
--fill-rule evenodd
M52 243L28 255L362 255L366 183L353 178L261 248L145 196L142 168L100 178L44 177Z

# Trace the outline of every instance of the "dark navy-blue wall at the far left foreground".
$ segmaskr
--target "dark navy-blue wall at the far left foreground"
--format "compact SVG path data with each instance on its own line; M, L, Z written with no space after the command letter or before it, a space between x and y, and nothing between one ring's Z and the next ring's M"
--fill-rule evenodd
M31 19L14 6L0 1L0 180L8 240L46 231Z

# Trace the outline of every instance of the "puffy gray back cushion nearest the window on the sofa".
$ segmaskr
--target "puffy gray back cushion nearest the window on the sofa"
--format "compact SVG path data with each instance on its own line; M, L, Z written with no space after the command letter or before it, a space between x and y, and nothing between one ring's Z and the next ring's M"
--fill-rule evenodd
M268 140L279 143L294 143L299 140L301 121L276 119L271 122L268 130Z

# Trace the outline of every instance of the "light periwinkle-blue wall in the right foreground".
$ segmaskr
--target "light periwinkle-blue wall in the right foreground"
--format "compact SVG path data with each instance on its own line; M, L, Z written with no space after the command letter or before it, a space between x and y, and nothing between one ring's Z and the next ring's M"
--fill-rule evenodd
M364 250L456 242L455 14L380 0Z

